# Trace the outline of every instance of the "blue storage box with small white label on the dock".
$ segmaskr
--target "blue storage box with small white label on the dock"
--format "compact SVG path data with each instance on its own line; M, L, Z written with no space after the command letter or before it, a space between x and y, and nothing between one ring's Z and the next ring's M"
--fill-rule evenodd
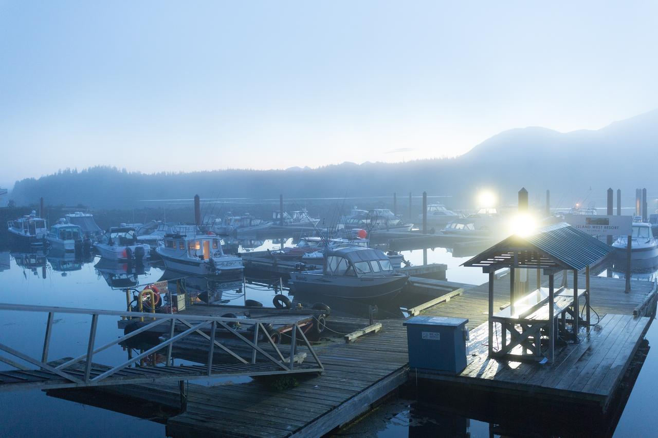
M466 368L466 318L414 316L407 326L409 367L457 374Z

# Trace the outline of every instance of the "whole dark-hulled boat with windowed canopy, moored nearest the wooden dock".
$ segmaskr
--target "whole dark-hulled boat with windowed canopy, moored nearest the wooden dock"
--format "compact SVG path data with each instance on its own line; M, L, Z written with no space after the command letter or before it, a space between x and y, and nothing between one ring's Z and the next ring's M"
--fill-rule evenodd
M407 283L396 274L388 256L378 249L349 247L327 251L324 268L290 273L295 293L374 301L392 299Z

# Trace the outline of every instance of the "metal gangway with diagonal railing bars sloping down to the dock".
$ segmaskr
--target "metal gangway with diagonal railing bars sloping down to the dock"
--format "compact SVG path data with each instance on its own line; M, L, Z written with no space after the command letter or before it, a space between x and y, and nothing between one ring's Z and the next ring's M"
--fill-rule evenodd
M46 319L41 358L32 357L30 354L22 353L5 345L2 338L8 333L0 335L0 362L9 364L13 368L12 370L0 371L0 391L95 387L154 383L166 380L186 381L222 376L273 376L278 374L316 373L324 370L320 359L311 347L311 343L296 323L292 326L290 346L288 346L277 345L272 341L266 328L268 322L265 320L22 304L0 304L0 310L41 312ZM72 358L49 360L53 321L56 314L58 316L61 316L61 314L91 315L86 353ZM99 316L130 318L130 320L140 322L140 327L97 347L96 331ZM236 330L236 324L240 324L245 328L248 327L248 329L240 333ZM154 328L162 329L159 326L164 326L164 331L168 332L168 336L159 337L156 345L146 351L132 356L118 365L107 366L93 363L95 354L116 345L124 344L139 335L139 333L152 331ZM217 337L217 334L220 337ZM207 341L207 344L205 344L205 349L207 349L205 364L173 366L172 347L176 342L193 335L197 339L201 336ZM245 335L251 335L251 339ZM259 338L261 338L260 341ZM232 342L228 342L229 339ZM235 345L236 340L241 346L241 355L226 345ZM244 357L244 346L247 346L247 351L251 349L251 358ZM300 349L300 347L302 348ZM143 365L143 358L161 352L163 349L166 349L166 362L164 364ZM205 353L205 349L203 353ZM222 360L222 363L216 363L214 359L218 352L224 353L224 355L228 354L231 360ZM307 352L311 354L312 360L309 358L308 361L297 363L300 358L307 357L307 354L305 354ZM284 353L288 353L288 357L284 356ZM16 358L27 362L30 366L16 362Z

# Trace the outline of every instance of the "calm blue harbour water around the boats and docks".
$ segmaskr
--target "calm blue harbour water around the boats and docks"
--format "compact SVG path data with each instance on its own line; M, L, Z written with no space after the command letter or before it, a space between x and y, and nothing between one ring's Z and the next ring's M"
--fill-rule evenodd
M284 239L290 244L290 239ZM261 251L280 247L282 241L227 242L234 251ZM228 252L228 251L227 251ZM422 264L423 251L404 251L405 258L413 264ZM428 262L447 264L447 279L463 283L480 284L486 276L478 269L459 266L469 256L453 257L451 251L437 248L427 250ZM123 265L99 264L99 258L85 263L74 263L57 257L26 256L23 253L0 251L0 302L40 304L124 310L126 297L122 290L111 285L122 281L139 284L158 281L164 271L157 265L147 266L138 274L128 275ZM605 275L605 274L604 274ZM613 275L618 274L613 272ZM641 274L642 276L651 274ZM124 284L124 283L121 283ZM272 306L274 292L261 287L249 287L247 298L257 299L265 306ZM241 304L244 297L234 289L222 292L221 299ZM55 316L53 339L49 359L77 356L86 350L90 316ZM41 313L0 312L0 338L2 343L39 357L45 331L46 315ZM97 345L122 335L116 328L116 318L101 316ZM655 326L647 333L649 345L658 342ZM97 362L118 364L127 358L120 347L108 349L95 356ZM650 436L658 430L658 417L652 415L658 353L649 350L617 426L619 436ZM10 367L0 363L0 369ZM450 395L446 395L450 397ZM0 408L5 416L0 423L0 436L28 437L47 433L50 437L116 437L116 436L164 436L164 426L130 415L95 408L77 402L49 397L42 391L0 393ZM419 402L413 397L399 397L385 403L355 426L342 431L346 436L436 436L465 435L488 437L490 423L476 415L449 412L431 402ZM479 419L478 419L479 418ZM502 421L502 420L501 420Z

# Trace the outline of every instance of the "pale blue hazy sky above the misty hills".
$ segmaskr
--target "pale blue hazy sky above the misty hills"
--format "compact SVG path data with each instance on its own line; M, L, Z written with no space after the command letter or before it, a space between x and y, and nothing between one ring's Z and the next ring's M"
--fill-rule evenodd
M658 108L651 1L0 0L0 186L453 157Z

